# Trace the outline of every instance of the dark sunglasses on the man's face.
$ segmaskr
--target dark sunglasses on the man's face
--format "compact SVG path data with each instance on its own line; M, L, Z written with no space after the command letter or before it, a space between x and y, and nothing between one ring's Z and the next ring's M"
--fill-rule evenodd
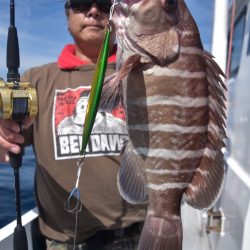
M112 6L110 0L70 0L65 7L71 8L75 12L85 12L88 11L94 3L102 12L106 14L110 12Z

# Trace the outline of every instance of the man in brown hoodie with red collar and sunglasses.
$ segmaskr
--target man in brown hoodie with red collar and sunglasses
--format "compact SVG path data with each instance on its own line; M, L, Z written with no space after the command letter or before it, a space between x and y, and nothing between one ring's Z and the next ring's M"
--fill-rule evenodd
M81 136L77 131L58 133L58 125L73 113L83 91L89 91L95 63L109 18L109 0L71 0L65 4L68 30L74 45L67 45L56 63L33 68L22 81L30 81L38 93L38 115L33 125L18 134L18 125L0 120L0 159L8 151L18 153L17 144L32 144L36 155L35 190L39 226L47 249L136 249L144 206L121 199L116 187L119 152L126 131L115 127L92 134L79 182L81 211L65 210L65 201L75 185ZM115 70L115 36L110 41L107 74ZM107 117L110 117L107 116ZM117 119L117 118L116 118ZM83 121L84 122L84 121ZM122 121L121 121L122 122ZM108 121L106 121L108 124ZM30 121L25 121L28 127Z

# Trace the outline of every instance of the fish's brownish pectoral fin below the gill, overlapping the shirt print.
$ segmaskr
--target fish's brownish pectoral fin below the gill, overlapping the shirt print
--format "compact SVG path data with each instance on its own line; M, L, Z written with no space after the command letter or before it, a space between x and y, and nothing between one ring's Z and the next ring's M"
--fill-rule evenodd
M102 90L102 97L99 104L99 109L107 112L111 112L114 108L117 108L122 103L122 80L140 63L140 55L130 56L121 69L105 78L104 86Z

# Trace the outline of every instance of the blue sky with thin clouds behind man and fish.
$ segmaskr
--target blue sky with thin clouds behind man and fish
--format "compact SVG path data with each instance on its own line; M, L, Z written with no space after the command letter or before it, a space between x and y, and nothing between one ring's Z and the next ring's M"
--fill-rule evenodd
M25 69L55 61L66 43L72 42L66 27L63 0L21 0L16 2L22 73ZM213 0L186 0L198 23L205 49L210 50ZM0 0L0 76L6 79L6 41L9 0Z

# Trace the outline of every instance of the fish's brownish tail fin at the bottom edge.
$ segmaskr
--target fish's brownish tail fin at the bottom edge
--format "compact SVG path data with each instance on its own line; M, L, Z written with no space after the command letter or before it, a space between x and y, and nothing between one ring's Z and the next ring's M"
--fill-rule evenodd
M181 218L147 216L139 242L139 250L181 250Z

